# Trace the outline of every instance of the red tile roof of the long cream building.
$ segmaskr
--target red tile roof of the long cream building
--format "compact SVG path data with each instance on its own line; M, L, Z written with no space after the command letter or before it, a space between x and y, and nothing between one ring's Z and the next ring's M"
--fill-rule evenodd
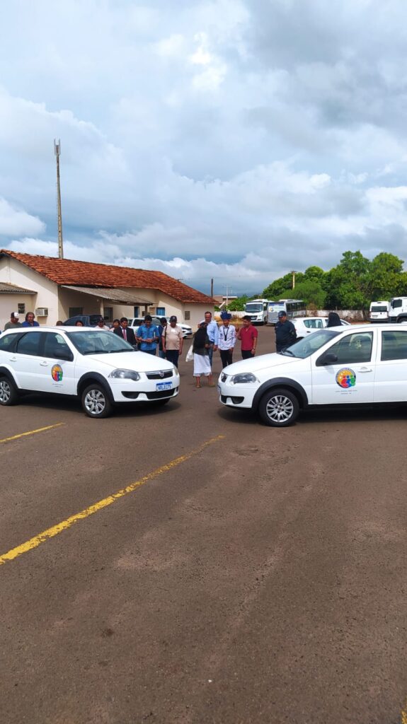
M202 292L188 287L162 271L133 269L131 266L113 266L112 264L93 264L91 261L74 261L54 256L36 256L20 254L17 251L1 249L0 256L12 256L30 269L51 279L57 285L76 285L86 287L136 287L138 289L158 289L180 302L193 302L213 306L214 301Z

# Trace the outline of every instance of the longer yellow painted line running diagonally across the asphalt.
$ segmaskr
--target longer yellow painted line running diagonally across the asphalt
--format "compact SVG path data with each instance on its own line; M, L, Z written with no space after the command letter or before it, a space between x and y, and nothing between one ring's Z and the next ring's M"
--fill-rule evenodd
M214 442L219 442L223 439L225 439L225 435L217 435L217 437L211 437L211 439L206 440L206 442L203 442L202 445L196 447L195 450L190 450L190 452L186 452L185 455L180 455L179 458L170 460L169 463L161 466L161 468L156 468L151 473L148 473L143 478L140 478L140 480L136 480L134 483L130 483L130 485L127 485L125 488L122 488L116 493L109 495L109 497L106 497L103 500L99 500L93 505L90 505L89 508L81 510L80 513L70 515L70 518L67 518L66 521L56 523L56 526L48 528L46 531L39 533L37 536L34 536L25 543L17 546L17 548L12 548L12 550L9 550L7 553L0 555L0 565L7 563L7 561L9 560L14 560L14 558L19 557L23 553L28 553L28 551L33 550L33 548L37 548L39 545L41 545L41 543L45 543L50 538L54 538L54 536L59 535L59 533L62 533L62 531L65 531L67 530L67 528L73 526L74 523L77 523L78 521L83 521L84 518L88 518L89 515L93 515L93 513L98 513L99 510L107 508L108 505L112 505L112 503L116 502L125 495L133 493L135 489L140 488L142 485L145 485L146 483L148 483L148 481L153 480L154 478L158 478L159 475L167 473L168 471L172 470L172 468L176 468L181 463L185 463L186 460L190 460L190 458L198 455L199 452L205 450L205 448L209 447L209 445L213 445Z

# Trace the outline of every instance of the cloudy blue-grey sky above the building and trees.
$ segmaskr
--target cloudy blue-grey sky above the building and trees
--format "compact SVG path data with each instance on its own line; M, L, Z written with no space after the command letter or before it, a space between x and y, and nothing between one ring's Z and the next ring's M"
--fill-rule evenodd
M407 258L404 0L13 0L0 246L261 292Z

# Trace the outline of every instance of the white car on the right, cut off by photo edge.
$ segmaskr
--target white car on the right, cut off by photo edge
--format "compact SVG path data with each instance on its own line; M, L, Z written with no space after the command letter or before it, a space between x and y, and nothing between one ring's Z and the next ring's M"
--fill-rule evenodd
M301 408L407 402L407 329L400 324L316 329L280 353L226 367L220 402L258 411L275 427Z

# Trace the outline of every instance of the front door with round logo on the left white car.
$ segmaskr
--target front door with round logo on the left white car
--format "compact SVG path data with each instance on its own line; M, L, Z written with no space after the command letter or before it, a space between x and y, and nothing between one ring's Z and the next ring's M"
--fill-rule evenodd
M44 332L38 358L38 390L75 395L75 355L63 334Z

